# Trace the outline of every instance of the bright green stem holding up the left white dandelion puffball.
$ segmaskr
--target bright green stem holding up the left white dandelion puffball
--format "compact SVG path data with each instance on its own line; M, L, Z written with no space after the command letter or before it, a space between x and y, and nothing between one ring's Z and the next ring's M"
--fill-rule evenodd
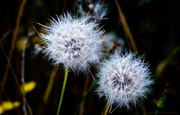
M59 100L59 105L58 105L58 110L57 110L57 114L56 115L59 115L59 113L60 113L60 109L61 109L61 105L62 105L62 101L63 101L63 96L64 96L64 91L65 91L65 87L66 87L67 78L68 78L68 68L66 67L63 87L62 87L62 91L61 91L61 97L60 97L60 100Z

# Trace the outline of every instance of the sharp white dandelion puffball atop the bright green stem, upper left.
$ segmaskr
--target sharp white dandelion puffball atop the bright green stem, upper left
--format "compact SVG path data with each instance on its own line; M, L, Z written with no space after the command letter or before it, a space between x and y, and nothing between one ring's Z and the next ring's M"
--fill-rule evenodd
M50 20L46 34L44 53L54 64L64 64L70 70L86 70L89 64L100 62L103 50L103 31L89 16L72 17L69 13Z

